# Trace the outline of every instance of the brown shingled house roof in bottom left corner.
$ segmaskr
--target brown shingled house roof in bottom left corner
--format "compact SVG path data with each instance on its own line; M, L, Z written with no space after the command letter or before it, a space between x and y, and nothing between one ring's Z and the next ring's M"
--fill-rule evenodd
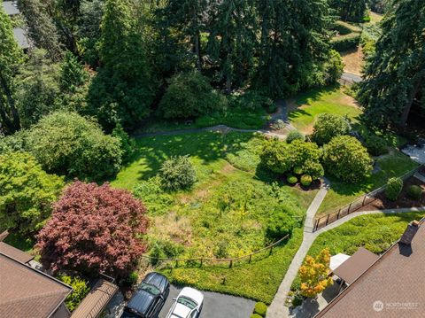
M72 288L0 252L0 317L48 318Z

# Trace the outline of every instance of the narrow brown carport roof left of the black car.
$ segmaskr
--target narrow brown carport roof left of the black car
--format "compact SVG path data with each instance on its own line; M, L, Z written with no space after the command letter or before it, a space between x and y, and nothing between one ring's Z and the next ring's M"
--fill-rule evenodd
M97 317L117 291L117 285L99 279L81 304L75 308L71 318Z

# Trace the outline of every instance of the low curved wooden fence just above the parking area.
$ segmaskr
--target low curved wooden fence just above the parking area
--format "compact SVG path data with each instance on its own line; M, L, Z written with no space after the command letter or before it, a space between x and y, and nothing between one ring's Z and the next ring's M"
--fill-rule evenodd
M142 258L154 260L156 262L174 262L176 268L178 268L179 266L182 266L183 264L187 266L190 265L192 267L200 267L200 268L202 268L203 266L204 267L209 266L211 264L214 264L216 266L220 264L225 264L228 268L233 268L237 264L240 264L244 261L251 263L251 261L254 260L254 257L256 255L259 255L260 253L264 253L266 257L270 256L273 253L274 248L277 245L281 244L283 241L286 241L289 237L290 235L288 234L285 237L282 237L280 240L274 242L274 244L270 244L266 247L263 247L259 251L251 252L249 254L239 256L236 258L231 258L231 259L213 259L213 258L205 258L205 257L192 258L192 259L182 259L182 258L172 259L172 258L154 257L150 255L142 255Z

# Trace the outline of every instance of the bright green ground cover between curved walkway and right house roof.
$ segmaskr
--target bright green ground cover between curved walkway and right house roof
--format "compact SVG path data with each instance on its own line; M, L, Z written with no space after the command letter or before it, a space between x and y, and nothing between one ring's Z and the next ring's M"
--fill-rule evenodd
M331 255L352 255L363 246L370 252L380 254L388 250L413 220L421 220L424 213L360 215L316 238L307 255L316 256L328 248ZM292 283L292 290L299 286L299 278Z

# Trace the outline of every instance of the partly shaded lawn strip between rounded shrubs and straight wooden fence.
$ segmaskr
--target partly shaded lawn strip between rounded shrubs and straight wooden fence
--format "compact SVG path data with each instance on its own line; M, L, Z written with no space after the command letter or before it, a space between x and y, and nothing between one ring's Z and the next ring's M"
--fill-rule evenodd
M390 177L404 175L418 166L412 159L397 150L377 159L377 164L381 170L367 176L363 182L347 183L329 177L330 190L321 204L318 214L332 213L337 208L348 205L355 198L383 186Z

